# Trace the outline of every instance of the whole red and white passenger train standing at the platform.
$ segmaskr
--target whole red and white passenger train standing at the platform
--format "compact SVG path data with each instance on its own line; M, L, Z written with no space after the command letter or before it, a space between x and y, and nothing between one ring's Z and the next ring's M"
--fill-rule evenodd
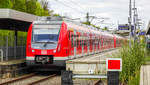
M64 21L60 17L41 17L28 30L27 65L65 66L65 61L117 48L125 39L91 27Z

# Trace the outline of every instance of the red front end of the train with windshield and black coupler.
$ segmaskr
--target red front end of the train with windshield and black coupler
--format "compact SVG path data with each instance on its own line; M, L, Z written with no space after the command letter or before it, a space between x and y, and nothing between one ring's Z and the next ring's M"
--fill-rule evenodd
M44 17L34 21L28 30L26 62L28 66L57 65L64 66L64 60L56 62L60 51L60 18Z

